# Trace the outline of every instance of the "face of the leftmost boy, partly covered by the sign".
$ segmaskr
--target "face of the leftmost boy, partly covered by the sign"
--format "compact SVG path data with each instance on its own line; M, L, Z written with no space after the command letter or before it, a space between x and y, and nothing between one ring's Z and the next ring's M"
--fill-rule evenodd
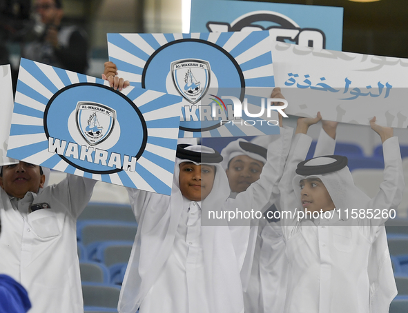
M46 175L40 174L38 165L20 161L18 164L3 166L0 186L10 196L22 199L29 191L37 193L45 181Z

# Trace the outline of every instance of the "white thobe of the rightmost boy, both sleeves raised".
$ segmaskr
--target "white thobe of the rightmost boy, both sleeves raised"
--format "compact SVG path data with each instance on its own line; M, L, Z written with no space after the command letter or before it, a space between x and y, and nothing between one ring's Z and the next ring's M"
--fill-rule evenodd
M304 134L297 136L294 143L298 145L291 149L289 170L286 172L285 168L281 181L282 210L292 212L300 207L300 203L293 194L291 179L295 165L304 159L311 142ZM365 205L360 207L363 210L388 212L398 206L401 198L404 183L398 139L387 139L383 149L385 181L376 197L363 203ZM287 173L291 176L289 179ZM350 215L346 219L342 211L345 209L328 211L332 214L329 219L329 215L323 214L312 220L297 221L297 216L284 219L282 230L290 266L285 313L387 312L391 299L396 295L387 245L380 243L382 250L376 256L370 254L374 241L384 239L383 223L386 219L382 216L373 220L352 219ZM375 273L378 281L371 281L370 268L378 271ZM380 301L374 299L377 295L373 292L378 283L382 285L378 290L385 294ZM372 307L373 303L376 307ZM379 307L384 309L379 310Z

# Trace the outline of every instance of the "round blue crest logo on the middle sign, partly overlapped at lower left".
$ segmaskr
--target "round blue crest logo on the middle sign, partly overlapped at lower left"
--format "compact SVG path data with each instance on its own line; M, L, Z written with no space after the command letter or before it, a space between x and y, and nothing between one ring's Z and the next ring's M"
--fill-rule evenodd
M240 65L220 46L202 39L179 39L150 55L142 73L142 88L181 95L180 130L203 132L220 127L220 119L211 114L211 98L228 90L224 95L243 101L245 80Z

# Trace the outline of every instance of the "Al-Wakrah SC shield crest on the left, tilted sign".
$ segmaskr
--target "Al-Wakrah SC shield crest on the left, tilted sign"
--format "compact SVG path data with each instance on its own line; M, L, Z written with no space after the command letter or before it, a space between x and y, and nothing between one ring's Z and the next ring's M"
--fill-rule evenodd
M89 145L108 139L115 121L116 111L106 105L89 101L77 104L77 128Z

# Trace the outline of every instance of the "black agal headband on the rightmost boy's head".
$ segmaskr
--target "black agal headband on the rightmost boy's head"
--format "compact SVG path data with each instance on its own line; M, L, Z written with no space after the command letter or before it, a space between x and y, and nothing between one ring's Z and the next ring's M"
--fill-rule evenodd
M333 159L331 163L325 164L317 164L312 160L318 161L318 159ZM311 162L312 161L312 162ZM310 164L309 162L313 163ZM309 163L309 165L307 164ZM331 172L336 172L345 168L347 166L347 157L341 155L326 155L326 156L318 156L317 158L309 159L306 161L302 161L298 164L298 168L296 169L296 174L302 176L310 176L310 175L319 175L319 174L327 174Z

